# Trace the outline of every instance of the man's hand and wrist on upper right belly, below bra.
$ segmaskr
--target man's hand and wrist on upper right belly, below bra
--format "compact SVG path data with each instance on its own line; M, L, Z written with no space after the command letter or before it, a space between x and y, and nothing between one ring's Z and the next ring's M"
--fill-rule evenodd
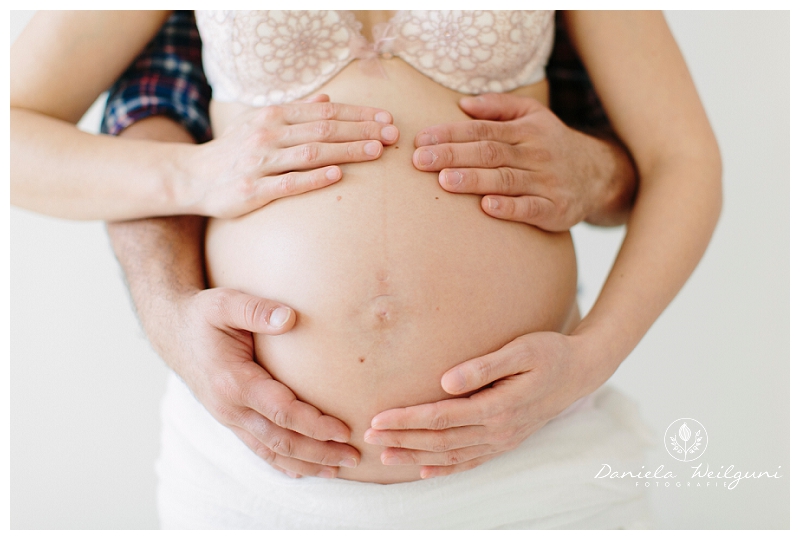
M452 193L485 195L490 216L566 231L581 221L624 223L636 173L617 143L564 125L533 98L462 98L476 120L429 127L414 140L414 166L440 171Z

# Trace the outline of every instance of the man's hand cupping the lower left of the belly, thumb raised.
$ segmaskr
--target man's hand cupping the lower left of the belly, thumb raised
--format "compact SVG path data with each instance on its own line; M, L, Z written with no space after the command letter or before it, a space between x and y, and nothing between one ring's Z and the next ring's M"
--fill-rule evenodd
M252 333L291 330L294 311L232 289L207 289L182 300L177 317L183 324L165 357L212 416L257 455L295 478L334 478L339 466L357 465L358 451L341 444L350 429L298 400L253 361Z

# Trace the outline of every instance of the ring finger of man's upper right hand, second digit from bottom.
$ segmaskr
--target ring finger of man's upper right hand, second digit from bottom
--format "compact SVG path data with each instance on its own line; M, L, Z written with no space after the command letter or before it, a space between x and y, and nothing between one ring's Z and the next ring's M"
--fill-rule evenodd
M439 185L451 193L534 195L536 184L527 171L513 167L496 169L444 169Z

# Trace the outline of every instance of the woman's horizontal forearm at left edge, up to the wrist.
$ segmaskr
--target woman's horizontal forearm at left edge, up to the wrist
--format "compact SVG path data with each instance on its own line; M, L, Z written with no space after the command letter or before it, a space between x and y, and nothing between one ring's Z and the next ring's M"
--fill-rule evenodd
M11 203L75 219L189 213L181 186L191 137L173 144L91 135L39 113L11 109Z

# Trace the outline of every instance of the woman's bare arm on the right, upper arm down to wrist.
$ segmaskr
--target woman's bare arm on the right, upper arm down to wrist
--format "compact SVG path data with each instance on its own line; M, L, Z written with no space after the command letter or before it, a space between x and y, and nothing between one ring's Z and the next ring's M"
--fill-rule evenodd
M567 24L640 183L586 338L605 381L675 297L722 206L722 164L700 97L660 12L574 12ZM595 381L590 386L599 386Z

